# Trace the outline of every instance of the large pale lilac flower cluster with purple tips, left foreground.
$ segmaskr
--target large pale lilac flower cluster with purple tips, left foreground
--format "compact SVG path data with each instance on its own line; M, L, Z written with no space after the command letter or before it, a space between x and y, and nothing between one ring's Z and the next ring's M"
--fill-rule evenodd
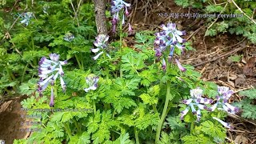
M62 79L64 72L62 70L62 65L66 65L67 61L59 61L59 54L49 54L50 59L42 57L39 61L38 68L38 92L42 95L42 91L46 89L49 84L54 84L58 75L60 75L60 81L62 85L62 90L66 90L66 84ZM56 73L54 74L54 72Z

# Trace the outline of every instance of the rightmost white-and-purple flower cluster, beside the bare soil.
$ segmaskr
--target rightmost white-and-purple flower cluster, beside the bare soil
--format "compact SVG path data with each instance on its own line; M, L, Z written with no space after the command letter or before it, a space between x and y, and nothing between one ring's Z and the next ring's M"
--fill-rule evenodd
M217 102L210 108L210 111L214 111L218 106L221 106L218 110L224 110L227 113L236 114L239 110L238 107L232 106L228 103L228 100L231 95L234 94L234 91L230 90L230 88L226 86L218 86L218 94L220 95L216 97Z

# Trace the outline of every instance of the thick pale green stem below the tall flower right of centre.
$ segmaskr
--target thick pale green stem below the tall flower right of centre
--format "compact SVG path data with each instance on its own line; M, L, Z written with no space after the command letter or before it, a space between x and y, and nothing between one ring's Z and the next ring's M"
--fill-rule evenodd
M169 100L170 100L170 81L167 81L166 102L165 102L165 106L162 110L161 119L158 122L157 134L156 134L156 137L155 137L155 142L156 143L159 141L159 138L160 138L160 133L161 133L161 130L162 130L162 123L166 119L166 112L167 112Z

